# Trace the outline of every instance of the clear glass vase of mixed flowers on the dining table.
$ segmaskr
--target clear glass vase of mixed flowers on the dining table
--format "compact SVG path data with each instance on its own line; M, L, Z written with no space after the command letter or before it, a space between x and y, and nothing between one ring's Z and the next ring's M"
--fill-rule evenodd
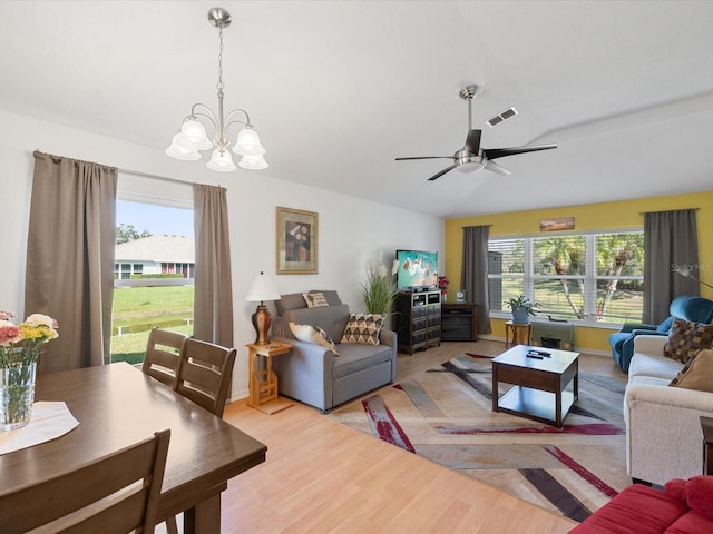
M14 325L11 312L0 312L0 431L30 422L37 362L42 345L59 336L57 320L32 314Z

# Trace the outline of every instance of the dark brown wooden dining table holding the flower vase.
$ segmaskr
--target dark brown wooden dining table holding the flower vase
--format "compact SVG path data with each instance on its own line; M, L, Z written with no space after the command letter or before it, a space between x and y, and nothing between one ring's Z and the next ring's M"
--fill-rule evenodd
M79 425L56 439L0 455L0 492L75 469L170 428L158 522L183 512L185 534L219 534L227 482L265 461L264 444L127 363L41 374L35 398L66 403Z

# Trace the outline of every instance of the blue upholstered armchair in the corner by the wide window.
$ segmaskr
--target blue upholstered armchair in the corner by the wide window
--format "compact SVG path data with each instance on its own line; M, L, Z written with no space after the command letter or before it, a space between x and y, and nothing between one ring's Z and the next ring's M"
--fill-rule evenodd
M682 295L671 301L668 313L671 316L660 325L629 323L609 336L612 357L624 373L628 373L628 364L634 356L634 337L638 334L667 336L673 319L676 317L693 323L711 323L713 320L713 301L703 297Z

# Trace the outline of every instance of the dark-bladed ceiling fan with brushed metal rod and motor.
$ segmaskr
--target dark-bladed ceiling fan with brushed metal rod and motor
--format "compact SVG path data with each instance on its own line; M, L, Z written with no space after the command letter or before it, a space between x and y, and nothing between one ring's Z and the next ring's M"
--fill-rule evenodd
M406 161L409 159L452 159L453 165L445 168L443 170L434 174L429 178L429 181L433 181L446 172L458 169L462 172L488 169L492 172L497 172L502 176L510 175L510 171L494 161L497 158L505 158L506 156L515 156L517 154L535 152L538 150L549 150L557 148L557 145L531 145L529 147L512 147L512 148L480 148L480 134L481 130L472 129L472 116L471 116L471 102L473 97L480 93L480 86L471 85L467 86L460 91L460 98L468 100L468 137L466 138L466 145L452 156L421 156L412 158L397 158L397 161Z

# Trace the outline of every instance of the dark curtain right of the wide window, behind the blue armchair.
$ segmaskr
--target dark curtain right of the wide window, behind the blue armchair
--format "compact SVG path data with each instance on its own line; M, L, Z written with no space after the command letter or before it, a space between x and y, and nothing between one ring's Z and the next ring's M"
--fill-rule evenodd
M699 265L696 211L644 214L644 323L658 324L668 317L668 306L675 297L700 295L699 283L675 270L677 266Z

